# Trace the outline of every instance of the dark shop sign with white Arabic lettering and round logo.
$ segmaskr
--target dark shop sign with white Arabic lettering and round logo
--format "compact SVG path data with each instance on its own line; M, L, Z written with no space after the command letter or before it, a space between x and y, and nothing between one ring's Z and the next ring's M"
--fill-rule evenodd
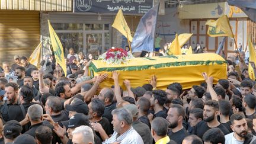
M153 6L153 0L74 0L74 12L116 14L145 14Z

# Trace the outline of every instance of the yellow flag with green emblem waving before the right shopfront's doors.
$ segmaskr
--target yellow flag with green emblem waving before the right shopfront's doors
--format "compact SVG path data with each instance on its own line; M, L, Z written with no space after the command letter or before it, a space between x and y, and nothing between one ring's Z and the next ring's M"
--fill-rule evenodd
M233 32L231 25L229 24L229 19L226 15L222 15L222 17L215 20L206 21L206 25L209 25L207 34L210 37L232 37Z

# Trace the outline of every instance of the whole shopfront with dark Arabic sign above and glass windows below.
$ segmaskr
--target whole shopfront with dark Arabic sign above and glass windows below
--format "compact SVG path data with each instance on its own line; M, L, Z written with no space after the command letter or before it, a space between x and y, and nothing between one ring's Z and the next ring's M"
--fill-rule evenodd
M161 0L162 1L162 0ZM162 2L164 4L164 1ZM73 1L73 12L41 12L41 35L44 50L49 50L47 39L47 20L62 42L65 56L69 49L75 53L91 53L97 58L106 50L114 47L125 47L127 40L119 31L112 28L119 8L123 9L124 17L132 33L145 12L153 5L153 0L143 1ZM44 52L47 53L47 52Z

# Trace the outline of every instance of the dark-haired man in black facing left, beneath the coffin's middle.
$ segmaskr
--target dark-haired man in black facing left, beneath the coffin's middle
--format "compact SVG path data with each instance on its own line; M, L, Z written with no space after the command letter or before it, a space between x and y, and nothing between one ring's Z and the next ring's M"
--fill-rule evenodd
M158 89L152 91L151 97L151 107L153 107L153 117L152 114L149 114L149 120L152 121L155 117L166 118L167 113L164 110L164 104L167 101L167 94L165 91Z

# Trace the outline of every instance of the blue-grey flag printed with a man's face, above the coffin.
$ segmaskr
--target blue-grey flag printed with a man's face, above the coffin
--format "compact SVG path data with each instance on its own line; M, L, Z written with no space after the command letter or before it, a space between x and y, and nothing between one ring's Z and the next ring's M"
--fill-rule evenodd
M159 4L155 5L140 19L132 41L132 53L135 57L139 57L142 51L153 52L158 8Z

